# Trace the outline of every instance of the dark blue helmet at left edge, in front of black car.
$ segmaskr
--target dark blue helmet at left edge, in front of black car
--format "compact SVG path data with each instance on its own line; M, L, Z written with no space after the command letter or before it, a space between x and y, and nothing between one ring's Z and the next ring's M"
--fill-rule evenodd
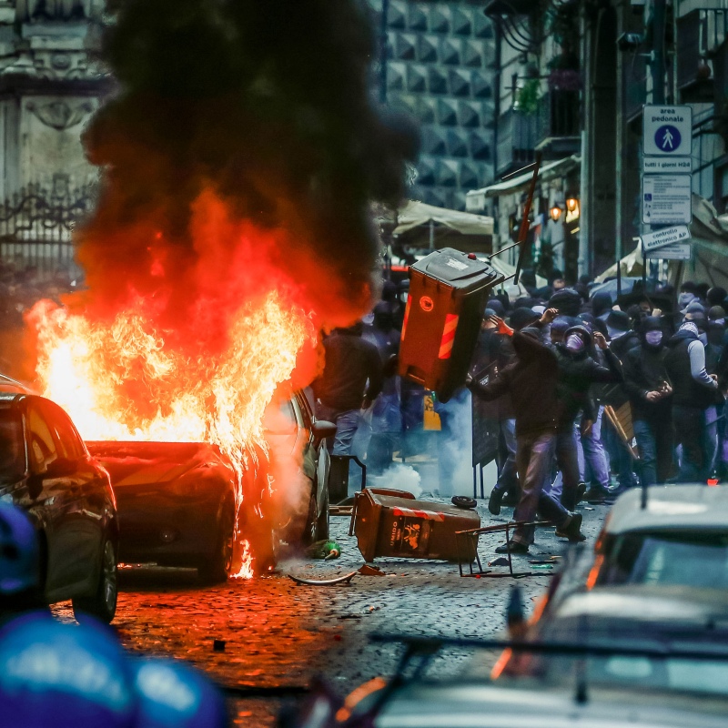
M40 553L33 523L24 511L0 503L0 602L40 585Z

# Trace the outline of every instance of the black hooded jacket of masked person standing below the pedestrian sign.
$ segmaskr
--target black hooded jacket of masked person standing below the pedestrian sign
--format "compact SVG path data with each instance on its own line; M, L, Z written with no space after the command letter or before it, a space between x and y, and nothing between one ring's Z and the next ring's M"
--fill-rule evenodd
M630 349L622 361L624 389L630 397L634 420L670 420L672 417L672 395L656 402L645 399L650 392L660 389L662 382L670 383L665 367L666 356L667 349L663 346L640 344Z

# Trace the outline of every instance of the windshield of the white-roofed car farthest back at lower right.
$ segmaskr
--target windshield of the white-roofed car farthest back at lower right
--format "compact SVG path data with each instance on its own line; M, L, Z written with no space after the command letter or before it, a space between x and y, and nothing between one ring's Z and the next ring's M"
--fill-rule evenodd
M605 544L597 583L728 589L728 536L626 533Z

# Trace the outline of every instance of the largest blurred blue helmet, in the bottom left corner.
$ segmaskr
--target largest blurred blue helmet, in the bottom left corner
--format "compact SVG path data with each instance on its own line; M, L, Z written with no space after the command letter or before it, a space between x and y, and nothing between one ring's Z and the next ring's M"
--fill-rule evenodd
M101 624L31 613L0 631L0 728L132 728L134 677Z

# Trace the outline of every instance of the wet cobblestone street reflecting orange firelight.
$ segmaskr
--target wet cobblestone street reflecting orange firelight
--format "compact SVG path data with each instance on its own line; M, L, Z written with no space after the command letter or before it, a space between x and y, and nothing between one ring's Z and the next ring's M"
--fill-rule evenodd
M499 519L482 505L479 510L484 526L511 516L511 509ZM607 509L580 510L589 547ZM348 529L348 518L331 518L332 536L343 549L338 561L286 561L278 573L254 581L203 589L194 571L125 569L114 626L132 652L172 655L194 662L222 685L267 691L263 698L231 698L241 725L275 723L285 697L271 695L271 689L296 693L319 673L345 694L390 673L398 647L369 644L373 632L485 637L502 629L513 580L460 578L455 563L378 559L385 576L357 575L349 586L299 586L288 579L287 573L327 578L358 569L362 559ZM481 537L484 567L501 541L501 533ZM565 545L553 529L541 529L531 555L514 557L514 567L533 570L529 559L558 555ZM527 609L549 581L548 571L533 571L538 575L519 581ZM65 605L57 611L72 618ZM213 650L214 640L225 641L223 652ZM467 659L443 652L430 670L451 674Z

